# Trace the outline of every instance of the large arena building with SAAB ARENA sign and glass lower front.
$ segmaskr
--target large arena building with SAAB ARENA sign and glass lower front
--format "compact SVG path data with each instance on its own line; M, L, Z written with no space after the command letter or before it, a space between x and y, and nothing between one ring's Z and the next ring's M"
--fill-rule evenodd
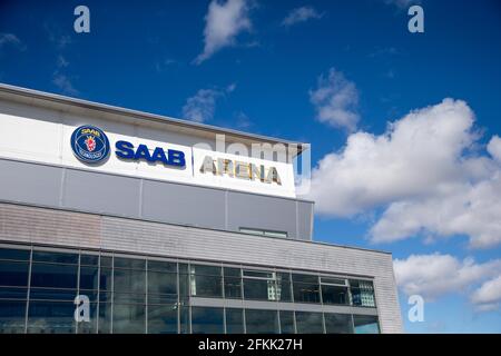
M0 85L0 333L401 333L392 256L254 144L305 147Z

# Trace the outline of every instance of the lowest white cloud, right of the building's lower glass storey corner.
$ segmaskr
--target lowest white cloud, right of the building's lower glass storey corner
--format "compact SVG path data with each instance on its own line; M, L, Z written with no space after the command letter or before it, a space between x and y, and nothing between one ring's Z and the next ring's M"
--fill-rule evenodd
M441 296L464 293L472 295L474 304L489 303L500 298L499 281L501 259L477 264L472 258L459 260L451 255L411 255L393 263L396 284L407 296L421 295L425 300ZM488 287L473 290L475 286L495 277Z

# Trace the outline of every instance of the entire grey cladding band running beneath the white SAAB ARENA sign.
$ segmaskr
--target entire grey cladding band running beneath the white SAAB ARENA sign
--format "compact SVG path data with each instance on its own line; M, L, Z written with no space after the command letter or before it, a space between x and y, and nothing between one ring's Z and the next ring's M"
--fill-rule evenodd
M312 239L307 201L32 162L0 159L0 199L222 230L278 230Z

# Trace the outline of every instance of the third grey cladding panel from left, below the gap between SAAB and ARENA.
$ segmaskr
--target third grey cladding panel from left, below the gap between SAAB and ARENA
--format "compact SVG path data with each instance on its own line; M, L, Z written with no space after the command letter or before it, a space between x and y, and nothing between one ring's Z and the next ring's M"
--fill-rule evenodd
M225 191L145 180L143 217L153 220L226 229Z

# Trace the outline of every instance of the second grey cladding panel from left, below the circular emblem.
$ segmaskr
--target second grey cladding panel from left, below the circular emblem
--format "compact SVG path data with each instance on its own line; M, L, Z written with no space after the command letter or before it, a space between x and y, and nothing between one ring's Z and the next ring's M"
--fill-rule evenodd
M140 179L67 169L63 207L139 217Z

